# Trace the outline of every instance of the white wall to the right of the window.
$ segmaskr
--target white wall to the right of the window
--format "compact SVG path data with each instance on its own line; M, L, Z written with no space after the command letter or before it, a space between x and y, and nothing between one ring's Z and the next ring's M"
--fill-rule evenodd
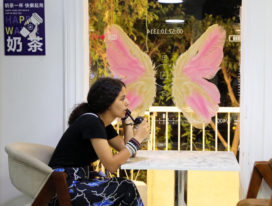
M241 16L241 197L255 161L272 158L272 1L243 0ZM270 198L263 182L259 198Z

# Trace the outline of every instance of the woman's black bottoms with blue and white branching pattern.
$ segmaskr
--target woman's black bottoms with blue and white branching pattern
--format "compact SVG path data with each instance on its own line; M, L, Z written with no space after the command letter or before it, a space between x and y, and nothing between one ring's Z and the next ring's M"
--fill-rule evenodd
M54 167L54 171L68 174L67 185L73 206L144 206L134 183L125 178L95 178L89 167ZM59 206L57 194L49 206Z

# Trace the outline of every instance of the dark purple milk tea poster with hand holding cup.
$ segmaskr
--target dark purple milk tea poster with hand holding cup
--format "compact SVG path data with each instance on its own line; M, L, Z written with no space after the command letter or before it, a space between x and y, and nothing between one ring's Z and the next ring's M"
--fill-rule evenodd
M4 0L5 55L45 55L44 0Z

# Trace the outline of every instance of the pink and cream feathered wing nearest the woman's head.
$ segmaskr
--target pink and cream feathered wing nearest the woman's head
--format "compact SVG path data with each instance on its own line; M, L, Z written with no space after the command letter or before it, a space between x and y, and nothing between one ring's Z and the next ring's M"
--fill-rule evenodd
M125 83L127 87L127 98L130 102L130 110L135 114L142 113L146 110L150 101L154 99L153 96L143 98L145 93L141 93L139 90L139 86L141 87L139 79L141 78L142 80L143 75L147 74L146 60L149 60L152 66L151 59L150 57L145 57L147 55L124 33L121 27L111 25L105 30L104 34L107 47L106 58L110 65L110 70ZM142 62L134 55L133 51L141 56ZM153 72L151 75L152 77L154 76ZM155 89L156 88L154 88L154 95L156 94ZM132 116L135 115L134 113Z

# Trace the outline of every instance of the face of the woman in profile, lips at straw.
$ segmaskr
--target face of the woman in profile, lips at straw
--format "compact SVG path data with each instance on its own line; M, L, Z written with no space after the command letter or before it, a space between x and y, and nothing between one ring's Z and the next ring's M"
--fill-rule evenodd
M123 86L120 93L112 103L111 108L109 109L116 117L124 118L126 113L125 110L129 108L129 102L126 94L126 88Z

